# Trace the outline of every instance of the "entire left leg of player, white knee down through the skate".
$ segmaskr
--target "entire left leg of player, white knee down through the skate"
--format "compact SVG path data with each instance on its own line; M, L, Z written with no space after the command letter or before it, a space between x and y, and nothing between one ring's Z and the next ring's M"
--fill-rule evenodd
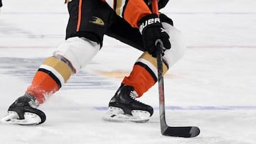
M43 111L36 109L68 81L70 76L84 67L100 50L100 45L83 38L69 38L60 45L53 57L39 67L26 94L18 98L1 119L3 123L22 125L41 124L46 121Z

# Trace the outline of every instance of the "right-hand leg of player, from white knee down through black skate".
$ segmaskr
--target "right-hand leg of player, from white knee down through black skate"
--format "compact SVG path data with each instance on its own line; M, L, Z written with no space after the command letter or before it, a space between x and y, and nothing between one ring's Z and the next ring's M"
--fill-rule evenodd
M163 57L163 68L165 74L169 67L173 66L182 56L186 47L183 44L181 37L181 32L176 28L171 26L169 23L163 23L164 28L166 28L167 33L172 35L170 38L171 49L164 52ZM113 98L110 100L109 109L107 111L107 120L114 121L131 121L136 119L137 121L149 120L153 113L153 108L149 105L140 103L132 104L129 100L130 94L135 93L140 97L149 90L157 82L157 62L156 58L149 55L148 52L139 57L137 62L134 64L133 70L129 77L124 77L121 87L114 94ZM127 90L128 89L128 90ZM139 106L138 106L139 105ZM149 113L148 115L140 115L139 112ZM127 117L128 116L128 117Z

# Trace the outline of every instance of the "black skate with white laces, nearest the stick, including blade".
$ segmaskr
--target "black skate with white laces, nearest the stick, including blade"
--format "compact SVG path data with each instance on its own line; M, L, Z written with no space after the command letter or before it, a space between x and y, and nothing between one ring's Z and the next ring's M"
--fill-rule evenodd
M149 121L154 109L149 105L137 101L136 98L137 93L134 91L134 87L122 84L110 100L107 114L103 117L103 120L133 121L137 123Z

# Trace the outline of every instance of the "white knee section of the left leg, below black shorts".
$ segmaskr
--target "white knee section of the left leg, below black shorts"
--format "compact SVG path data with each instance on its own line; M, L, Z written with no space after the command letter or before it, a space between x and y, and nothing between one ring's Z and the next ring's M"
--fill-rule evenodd
M68 38L61 44L55 52L53 57L60 58L66 62L74 73L79 72L85 65L87 65L92 57L94 57L100 50L100 44L88 40L87 38Z

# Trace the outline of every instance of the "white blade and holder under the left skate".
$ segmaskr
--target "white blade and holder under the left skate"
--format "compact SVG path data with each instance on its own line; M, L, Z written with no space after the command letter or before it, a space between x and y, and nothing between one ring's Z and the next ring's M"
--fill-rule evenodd
M41 118L35 113L24 113L24 119L18 119L18 113L15 111L8 111L6 116L1 119L4 124L17 124L17 125L37 125L41 122Z

